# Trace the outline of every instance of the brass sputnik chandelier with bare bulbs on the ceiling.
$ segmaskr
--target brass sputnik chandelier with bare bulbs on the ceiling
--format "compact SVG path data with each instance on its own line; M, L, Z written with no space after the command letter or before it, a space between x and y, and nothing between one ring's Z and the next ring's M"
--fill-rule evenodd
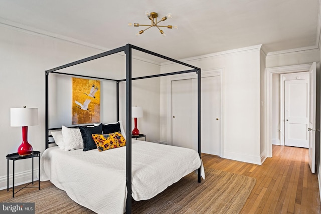
M171 19L172 18L172 14L169 13L168 15L166 15L165 17L163 17L161 20L159 20L157 22L157 17L158 17L158 14L155 13L155 12L151 12L149 13L149 11L146 11L145 12L145 15L147 16L147 18L151 21L151 24L150 25L140 25L138 23L134 23L134 25L132 25L132 23L128 23L128 26L131 27L131 26L134 26L134 27L139 27L139 26L146 26L147 28L144 29L144 30L140 30L136 36L139 36L140 34L144 33L146 30L148 30L149 28L151 27L156 27L158 30L159 30L159 33L161 33L163 36L166 36L166 34L164 33L164 31L160 28L168 28L168 29L177 29L177 26L172 26L172 25L168 25L168 26L161 26L161 25L158 25L158 23L161 23L161 22L164 22L165 20L167 19Z

